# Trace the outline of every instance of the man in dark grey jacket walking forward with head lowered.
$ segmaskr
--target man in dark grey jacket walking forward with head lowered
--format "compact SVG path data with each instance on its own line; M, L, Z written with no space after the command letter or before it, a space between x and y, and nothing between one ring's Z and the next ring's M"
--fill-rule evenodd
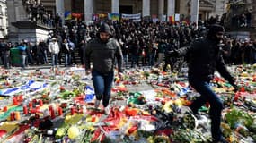
M119 76L123 71L123 55L119 42L112 38L110 26L103 23L97 34L85 46L85 71L90 74L92 71L93 87L95 90L95 108L98 108L101 100L105 114L110 113L110 91L114 79L115 59L118 62ZM91 69L91 60L93 68Z

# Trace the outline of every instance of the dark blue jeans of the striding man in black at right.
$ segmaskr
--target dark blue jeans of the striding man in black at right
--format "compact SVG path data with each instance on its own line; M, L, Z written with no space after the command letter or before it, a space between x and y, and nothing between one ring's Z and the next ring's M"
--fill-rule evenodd
M209 82L199 80L198 78L189 77L190 86L199 92L200 97L198 97L193 103L190 105L190 109L194 114L197 114L199 108L209 102L210 110L209 115L211 119L211 133L212 138L215 140L219 140L222 136L220 130L220 122L221 122L221 112L224 108L223 102L216 95L216 93L210 88Z

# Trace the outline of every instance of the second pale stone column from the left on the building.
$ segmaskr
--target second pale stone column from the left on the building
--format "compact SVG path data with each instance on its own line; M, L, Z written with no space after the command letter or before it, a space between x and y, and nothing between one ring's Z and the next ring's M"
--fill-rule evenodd
M84 20L86 23L93 19L93 0L84 0Z

